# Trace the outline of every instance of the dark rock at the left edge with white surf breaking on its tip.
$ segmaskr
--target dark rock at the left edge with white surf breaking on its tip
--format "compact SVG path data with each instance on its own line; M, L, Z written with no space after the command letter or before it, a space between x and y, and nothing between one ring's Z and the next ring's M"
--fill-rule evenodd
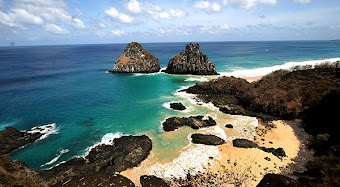
M12 151L38 140L43 134L18 131L13 127L6 127L0 131L0 153L9 154Z

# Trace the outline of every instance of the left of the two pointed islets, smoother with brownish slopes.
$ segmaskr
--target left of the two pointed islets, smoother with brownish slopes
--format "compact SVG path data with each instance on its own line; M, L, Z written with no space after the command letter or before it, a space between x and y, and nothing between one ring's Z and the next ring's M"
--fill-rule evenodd
M158 59L137 42L127 44L111 73L154 73L160 70Z

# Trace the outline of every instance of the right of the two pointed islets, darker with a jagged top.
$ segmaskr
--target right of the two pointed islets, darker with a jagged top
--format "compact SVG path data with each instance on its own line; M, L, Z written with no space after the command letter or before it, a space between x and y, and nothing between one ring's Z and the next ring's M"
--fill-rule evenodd
M217 75L215 64L211 63L198 43L190 43L185 50L176 54L165 70L169 74Z

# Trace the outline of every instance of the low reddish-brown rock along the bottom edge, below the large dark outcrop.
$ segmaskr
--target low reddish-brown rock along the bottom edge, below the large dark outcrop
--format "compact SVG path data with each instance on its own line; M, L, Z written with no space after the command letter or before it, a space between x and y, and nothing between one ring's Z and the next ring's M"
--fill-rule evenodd
M111 173L96 173L92 175L85 176L71 176L61 179L56 184L51 185L53 187L57 186L126 186L126 187L134 187L135 184L133 182L122 176Z

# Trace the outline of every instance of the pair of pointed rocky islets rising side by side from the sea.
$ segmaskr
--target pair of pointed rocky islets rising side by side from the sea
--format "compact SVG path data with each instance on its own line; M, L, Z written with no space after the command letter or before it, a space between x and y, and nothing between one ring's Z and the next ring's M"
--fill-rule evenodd
M158 59L137 42L126 46L116 60L111 73L155 73L159 72ZM204 55L198 43L190 43L185 50L176 54L165 70L169 74L217 75L215 65Z

